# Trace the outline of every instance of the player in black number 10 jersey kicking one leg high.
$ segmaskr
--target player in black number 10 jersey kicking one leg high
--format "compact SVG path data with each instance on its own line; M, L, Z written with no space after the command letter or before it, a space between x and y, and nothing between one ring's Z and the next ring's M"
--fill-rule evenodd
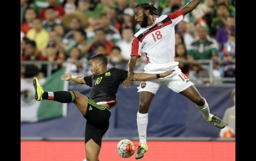
M65 73L63 81L72 80L90 87L90 97L86 97L78 91L46 92L40 86L37 78L33 79L36 90L35 99L53 100L61 103L73 102L82 113L86 121L85 128L85 151L87 161L98 161L101 148L102 136L109 127L110 109L116 104L116 93L119 84L127 77L127 71L117 68L107 69L107 57L97 54L91 57L90 66L92 76L74 76ZM164 78L173 73L170 70L162 74L134 73L135 80L143 81L156 78Z

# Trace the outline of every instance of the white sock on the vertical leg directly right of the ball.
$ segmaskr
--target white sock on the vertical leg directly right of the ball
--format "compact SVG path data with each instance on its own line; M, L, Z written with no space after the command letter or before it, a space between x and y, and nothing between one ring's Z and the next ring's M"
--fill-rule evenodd
M148 113L141 114L138 112L137 126L138 126L139 138L140 138L140 145L147 145L147 141L146 141L147 125L148 125Z

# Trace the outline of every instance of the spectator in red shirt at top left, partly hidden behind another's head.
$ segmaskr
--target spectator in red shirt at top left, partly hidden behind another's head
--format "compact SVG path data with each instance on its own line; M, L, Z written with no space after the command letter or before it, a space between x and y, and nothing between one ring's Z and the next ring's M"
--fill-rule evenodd
M65 11L64 11L64 8L61 6L61 5L58 5L57 1L58 0L47 0L48 3L49 3L49 6L52 6L54 7L54 10L56 11L56 16L58 18L61 18L62 16L64 16L65 14ZM49 7L47 6L47 7ZM40 11L40 19L42 20L45 20L46 17L45 17L45 11L46 11L46 8L43 8L41 11Z

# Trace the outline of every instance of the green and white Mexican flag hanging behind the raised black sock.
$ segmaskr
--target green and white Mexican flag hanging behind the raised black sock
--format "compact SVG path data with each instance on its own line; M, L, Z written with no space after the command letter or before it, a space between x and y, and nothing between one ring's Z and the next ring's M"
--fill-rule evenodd
M64 67L50 77L38 79L38 81L44 91L67 91L68 81L61 80L65 72ZM21 79L21 122L37 122L67 116L67 104L49 100L36 101L34 95L33 78Z

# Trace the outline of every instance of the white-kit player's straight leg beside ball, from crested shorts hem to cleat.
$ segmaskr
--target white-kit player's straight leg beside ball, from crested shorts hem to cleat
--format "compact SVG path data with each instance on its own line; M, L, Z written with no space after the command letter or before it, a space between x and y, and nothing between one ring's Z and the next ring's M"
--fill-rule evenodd
M157 93L161 83L159 80L150 80L140 84L138 92L140 92L140 104L137 113L137 126L140 139L140 146L135 155L135 159L144 157L144 153L148 151L146 142L147 125L148 125L148 109L151 101Z

